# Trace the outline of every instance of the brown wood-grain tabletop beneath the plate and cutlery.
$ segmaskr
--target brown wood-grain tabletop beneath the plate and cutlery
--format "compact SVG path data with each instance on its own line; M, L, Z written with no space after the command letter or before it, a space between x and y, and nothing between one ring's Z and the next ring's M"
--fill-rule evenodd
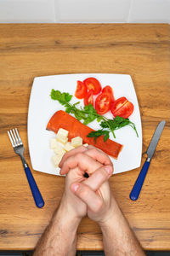
M35 207L7 134L19 127L31 165L27 113L32 81L62 73L132 76L142 118L142 164L156 125L167 120L139 200L128 196L140 168L111 177L111 189L144 249L170 250L169 57L165 24L0 25L0 250L33 249L63 193L64 177L33 171L45 200L44 208ZM78 229L77 249L103 249L99 227L88 218Z

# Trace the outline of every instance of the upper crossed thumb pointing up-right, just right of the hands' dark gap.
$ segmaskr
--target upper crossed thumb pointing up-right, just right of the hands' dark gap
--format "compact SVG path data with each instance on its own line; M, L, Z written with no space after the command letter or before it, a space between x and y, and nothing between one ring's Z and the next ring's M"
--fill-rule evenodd
M83 184L88 185L88 187L94 191L97 191L100 186L105 183L111 177L113 173L112 166L102 166L97 169L90 177L88 177Z

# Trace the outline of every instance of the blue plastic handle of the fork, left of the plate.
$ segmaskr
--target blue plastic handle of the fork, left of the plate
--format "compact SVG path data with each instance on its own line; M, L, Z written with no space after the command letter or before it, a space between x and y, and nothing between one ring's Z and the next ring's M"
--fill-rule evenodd
M35 182L34 177L31 174L31 170L29 167L25 167L26 177L28 179L28 183L31 188L31 193L33 195L34 201L37 207L42 208L44 206L44 201L42 199L42 195L37 187L37 183Z

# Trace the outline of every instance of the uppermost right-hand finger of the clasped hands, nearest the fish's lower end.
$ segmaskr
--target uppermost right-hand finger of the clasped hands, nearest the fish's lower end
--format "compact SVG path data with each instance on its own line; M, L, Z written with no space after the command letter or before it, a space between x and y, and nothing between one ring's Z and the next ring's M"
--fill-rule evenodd
M86 150L84 153L91 156L94 160L99 161L99 163L101 163L102 165L112 166L110 157L107 154L105 154L103 151L99 150L98 148L88 147L88 150Z

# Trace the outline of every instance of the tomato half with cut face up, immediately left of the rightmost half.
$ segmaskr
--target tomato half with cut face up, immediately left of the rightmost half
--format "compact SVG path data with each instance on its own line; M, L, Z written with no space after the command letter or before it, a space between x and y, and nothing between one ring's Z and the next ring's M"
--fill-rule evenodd
M102 92L95 100L95 109L97 113L104 114L111 109L111 95L108 92Z

